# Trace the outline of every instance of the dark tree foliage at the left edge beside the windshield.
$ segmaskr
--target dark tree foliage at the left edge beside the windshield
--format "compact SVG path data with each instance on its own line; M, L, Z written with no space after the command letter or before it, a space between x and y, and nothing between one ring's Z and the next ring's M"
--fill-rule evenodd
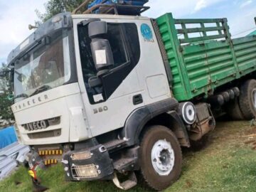
M4 63L2 63L0 72L0 122L4 120L7 124L11 124L14 120L14 114L11 111L11 105L14 104L11 75L9 75L9 69Z

